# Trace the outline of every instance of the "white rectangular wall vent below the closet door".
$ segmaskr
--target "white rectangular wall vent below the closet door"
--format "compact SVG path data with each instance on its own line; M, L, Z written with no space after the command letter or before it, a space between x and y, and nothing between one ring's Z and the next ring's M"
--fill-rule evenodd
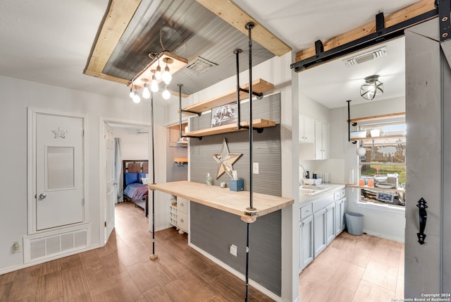
M68 253L87 247L87 229L78 229L61 234L39 238L24 238L25 246L30 248L29 261L50 258L54 255Z

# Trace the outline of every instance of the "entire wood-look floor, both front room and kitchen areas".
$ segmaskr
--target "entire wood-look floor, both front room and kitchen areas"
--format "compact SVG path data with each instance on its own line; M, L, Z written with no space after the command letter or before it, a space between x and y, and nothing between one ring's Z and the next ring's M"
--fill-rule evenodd
M244 301L245 284L187 246L175 229L152 234L143 210L116 205L103 248L0 275L0 301ZM299 275L306 301L402 298L404 245L343 232ZM271 301L252 286L249 301Z

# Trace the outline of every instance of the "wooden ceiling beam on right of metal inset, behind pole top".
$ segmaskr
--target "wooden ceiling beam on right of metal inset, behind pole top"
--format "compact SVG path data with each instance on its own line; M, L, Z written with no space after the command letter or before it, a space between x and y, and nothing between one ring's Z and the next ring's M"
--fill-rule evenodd
M276 56L282 56L287 52L291 52L291 47L289 47L285 42L280 40L278 37L267 30L263 25L261 25L257 20L249 16L248 13L243 11L239 6L234 4L230 0L196 0L202 6L209 9L216 16L222 18L227 23L232 25L240 32L248 35L248 30L245 25L249 22L255 23L255 27L252 29L252 40L259 43L262 47L268 49L268 51L276 54Z

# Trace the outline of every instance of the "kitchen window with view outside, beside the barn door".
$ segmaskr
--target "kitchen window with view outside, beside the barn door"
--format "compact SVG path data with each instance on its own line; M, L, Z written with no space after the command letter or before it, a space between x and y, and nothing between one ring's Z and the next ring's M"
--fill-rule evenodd
M359 184L369 185L373 181L376 187L362 188L360 200L403 207L406 182L405 121L378 120L377 123L360 125L359 131L367 131L367 137L358 143L359 147L366 149L366 154L359 158Z

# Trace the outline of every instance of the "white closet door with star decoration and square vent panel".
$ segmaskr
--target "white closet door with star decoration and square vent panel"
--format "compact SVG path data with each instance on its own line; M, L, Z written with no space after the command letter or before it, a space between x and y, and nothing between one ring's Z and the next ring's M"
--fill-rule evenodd
M36 114L36 230L83 222L83 119Z

